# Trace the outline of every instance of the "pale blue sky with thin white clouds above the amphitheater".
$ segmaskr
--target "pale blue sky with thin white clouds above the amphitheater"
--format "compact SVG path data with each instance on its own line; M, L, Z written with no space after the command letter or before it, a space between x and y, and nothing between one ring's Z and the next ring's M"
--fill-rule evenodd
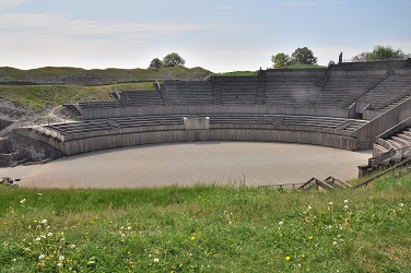
M212 72L308 47L327 66L376 45L411 54L411 0L0 0L0 67L148 68L177 52Z

